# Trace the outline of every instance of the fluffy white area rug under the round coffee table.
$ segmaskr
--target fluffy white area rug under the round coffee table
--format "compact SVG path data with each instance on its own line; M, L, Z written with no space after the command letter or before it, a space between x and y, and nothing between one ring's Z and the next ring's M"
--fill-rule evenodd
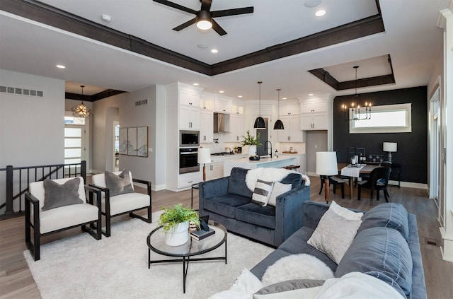
M96 241L87 233L41 246L41 259L23 252L41 297L55 298L208 298L231 287L243 268L251 269L273 248L228 235L228 264L192 262L183 294L182 263L151 264L147 235L156 228L138 219L112 226L112 236ZM211 252L224 254L224 246ZM156 257L156 256L153 256Z

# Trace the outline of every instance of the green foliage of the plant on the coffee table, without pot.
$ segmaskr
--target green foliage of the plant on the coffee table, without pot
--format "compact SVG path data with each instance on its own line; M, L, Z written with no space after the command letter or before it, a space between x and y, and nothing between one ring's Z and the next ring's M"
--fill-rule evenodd
M162 208L164 213L161 213L159 216L159 225L164 226L164 232L168 232L178 225L178 223L183 223L189 221L195 223L197 228L200 228L200 218L198 213L190 208L184 208L183 204L177 204L172 209L167 209L165 206Z

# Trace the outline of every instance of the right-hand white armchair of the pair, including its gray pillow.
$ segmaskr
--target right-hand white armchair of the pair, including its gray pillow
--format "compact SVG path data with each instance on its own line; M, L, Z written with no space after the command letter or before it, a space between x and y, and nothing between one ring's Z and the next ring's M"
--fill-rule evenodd
M102 233L110 237L111 218L129 213L130 217L139 218L151 223L151 182L132 178L127 170L122 172L104 172L93 175L92 187L101 190L101 209L105 216L105 230ZM134 182L145 184L147 194L134 192ZM147 209L147 218L137 215L134 211Z

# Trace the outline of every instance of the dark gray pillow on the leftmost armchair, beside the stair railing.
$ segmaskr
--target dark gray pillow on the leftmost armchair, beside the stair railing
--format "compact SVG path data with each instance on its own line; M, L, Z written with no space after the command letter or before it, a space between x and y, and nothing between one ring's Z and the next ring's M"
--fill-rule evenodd
M79 197L79 177L74 180L58 184L52 180L44 180L44 206L42 211L55 209L60 206L69 206L70 204L83 204L84 201Z

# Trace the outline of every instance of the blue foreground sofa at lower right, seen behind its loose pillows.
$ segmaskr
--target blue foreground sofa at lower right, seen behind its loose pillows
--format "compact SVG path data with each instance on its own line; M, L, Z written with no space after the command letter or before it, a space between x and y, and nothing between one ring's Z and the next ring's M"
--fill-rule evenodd
M365 212L355 239L338 265L306 242L329 206L314 201L303 205L302 228L251 269L258 279L278 259L305 253L321 259L336 277L359 271L389 283L403 297L427 298L417 220L401 204L379 204Z

